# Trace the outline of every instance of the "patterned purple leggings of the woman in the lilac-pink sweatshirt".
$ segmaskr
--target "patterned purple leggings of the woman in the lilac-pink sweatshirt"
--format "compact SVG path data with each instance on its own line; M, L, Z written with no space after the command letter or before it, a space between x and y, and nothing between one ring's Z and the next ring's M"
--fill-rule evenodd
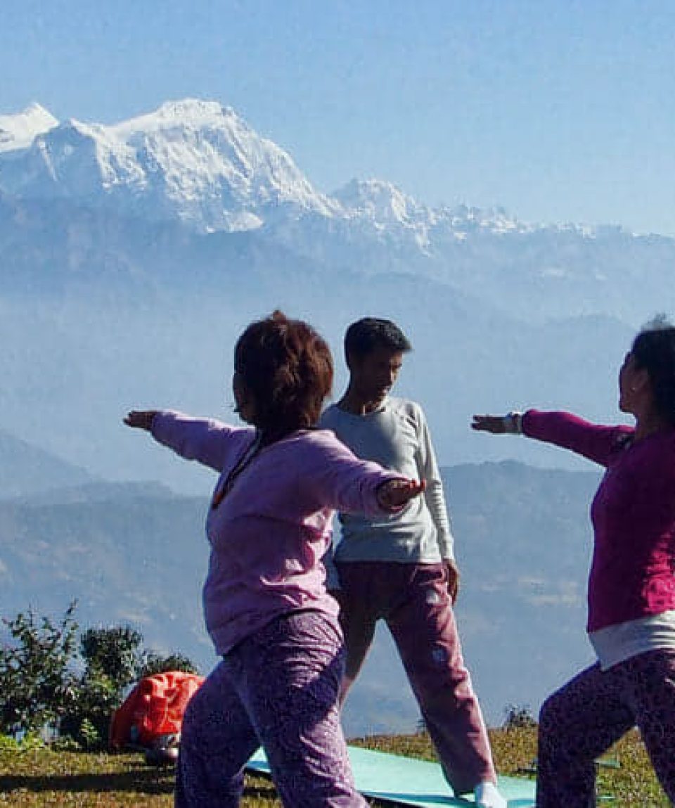
M236 808L243 767L262 744L287 808L365 808L340 726L342 633L293 612L230 651L187 707L176 808Z

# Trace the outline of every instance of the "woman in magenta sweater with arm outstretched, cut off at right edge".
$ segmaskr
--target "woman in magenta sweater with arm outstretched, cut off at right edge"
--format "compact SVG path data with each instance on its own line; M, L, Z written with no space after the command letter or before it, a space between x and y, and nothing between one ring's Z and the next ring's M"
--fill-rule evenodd
M597 663L541 709L539 808L595 805L593 761L635 725L675 801L675 327L657 321L635 337L618 387L634 427L538 410L472 423L606 468L591 506L588 631Z

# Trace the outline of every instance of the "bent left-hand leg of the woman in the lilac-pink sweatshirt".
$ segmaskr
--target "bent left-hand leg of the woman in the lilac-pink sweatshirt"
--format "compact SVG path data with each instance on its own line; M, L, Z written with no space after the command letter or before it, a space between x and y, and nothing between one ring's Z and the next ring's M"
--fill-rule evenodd
M176 808L237 808L243 767L260 746L220 663L192 696L182 722Z

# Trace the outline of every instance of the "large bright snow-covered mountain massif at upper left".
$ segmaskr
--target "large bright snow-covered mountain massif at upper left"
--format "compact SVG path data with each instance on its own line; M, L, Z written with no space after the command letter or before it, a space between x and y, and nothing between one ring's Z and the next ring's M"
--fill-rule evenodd
M283 149L219 103L165 103L111 126L57 124L37 108L4 118L13 151L0 154L0 190L10 196L65 198L198 232L255 229L279 208L335 208Z

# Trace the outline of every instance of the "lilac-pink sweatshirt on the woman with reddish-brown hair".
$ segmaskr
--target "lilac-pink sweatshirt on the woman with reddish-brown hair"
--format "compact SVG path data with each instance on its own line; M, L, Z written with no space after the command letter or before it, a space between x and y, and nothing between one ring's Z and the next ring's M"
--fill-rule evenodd
M163 411L152 434L181 457L220 473L215 494L253 444L255 431ZM218 654L226 654L275 617L299 608L336 615L321 563L333 512L383 513L378 486L400 474L360 461L332 432L301 430L262 448L218 507L210 507L211 543L204 617Z

